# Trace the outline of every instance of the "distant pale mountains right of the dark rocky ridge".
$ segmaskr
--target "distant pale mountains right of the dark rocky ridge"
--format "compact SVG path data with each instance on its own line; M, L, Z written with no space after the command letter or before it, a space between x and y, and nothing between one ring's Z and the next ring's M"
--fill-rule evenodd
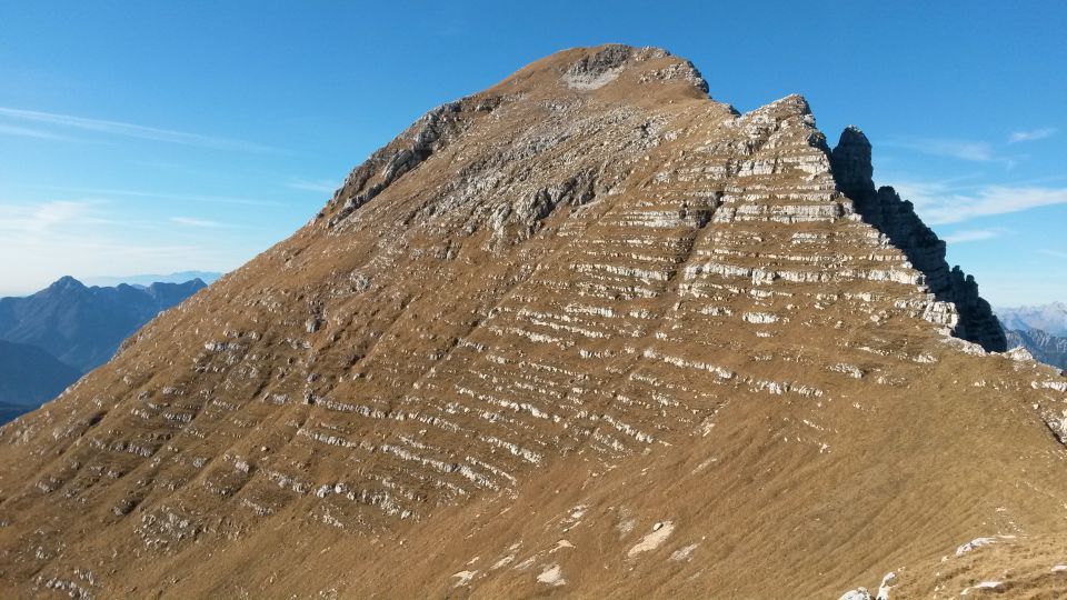
M1035 359L1067 369L1067 304L995 309L1008 338L1008 347L1021 346Z

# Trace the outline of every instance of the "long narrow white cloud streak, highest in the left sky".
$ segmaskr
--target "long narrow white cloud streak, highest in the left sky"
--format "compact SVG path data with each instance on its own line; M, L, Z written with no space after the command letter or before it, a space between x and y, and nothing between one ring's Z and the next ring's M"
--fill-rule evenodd
M239 150L249 152L273 152L272 148L258 143L246 142L241 140L231 140L227 138L217 138L215 136L202 136L199 133L189 133L173 129L161 129L157 127L146 127L136 123L122 121L109 121L103 119L90 119L87 117L76 117L73 114L60 114L57 112L43 112L38 110L23 110L9 107L0 107L0 117L44 123L52 127L78 129L82 131L94 131L108 136L119 136L126 138L138 138L143 140L153 140L168 143L178 143L182 146L196 146L201 148L213 148L217 150Z

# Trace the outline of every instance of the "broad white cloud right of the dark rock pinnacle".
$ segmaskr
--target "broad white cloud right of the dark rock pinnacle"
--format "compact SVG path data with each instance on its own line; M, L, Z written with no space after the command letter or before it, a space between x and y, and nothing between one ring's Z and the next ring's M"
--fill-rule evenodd
M929 224L959 223L978 217L1007 214L1067 204L1067 188L983 186L969 191L941 182L904 181L894 188Z

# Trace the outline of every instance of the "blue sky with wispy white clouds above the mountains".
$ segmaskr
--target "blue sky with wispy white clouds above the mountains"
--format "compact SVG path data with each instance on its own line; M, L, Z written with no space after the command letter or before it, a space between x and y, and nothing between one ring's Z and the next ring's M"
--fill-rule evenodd
M858 124L984 296L1067 300L1067 3L887 4L4 2L0 296L239 267L426 110L624 42Z

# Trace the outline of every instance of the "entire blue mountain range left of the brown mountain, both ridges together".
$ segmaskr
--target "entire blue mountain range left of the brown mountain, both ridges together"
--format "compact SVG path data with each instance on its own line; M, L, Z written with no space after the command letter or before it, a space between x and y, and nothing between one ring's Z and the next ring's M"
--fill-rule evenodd
M63 277L31 296L0 298L0 423L54 398L141 326L205 287L199 278L88 287Z

